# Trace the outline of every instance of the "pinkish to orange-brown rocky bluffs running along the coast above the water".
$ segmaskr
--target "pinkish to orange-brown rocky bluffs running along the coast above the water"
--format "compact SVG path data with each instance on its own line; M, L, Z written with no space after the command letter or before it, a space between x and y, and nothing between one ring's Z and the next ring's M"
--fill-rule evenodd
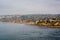
M2 22L2 21L0 21ZM33 22L33 21L22 21L22 20L14 20L14 21L8 21L8 23L19 23L19 24L26 24L26 25L36 25L36 26L41 26L41 27L49 27L49 28L60 28L60 23L56 22L54 24L51 23L38 23L38 22Z

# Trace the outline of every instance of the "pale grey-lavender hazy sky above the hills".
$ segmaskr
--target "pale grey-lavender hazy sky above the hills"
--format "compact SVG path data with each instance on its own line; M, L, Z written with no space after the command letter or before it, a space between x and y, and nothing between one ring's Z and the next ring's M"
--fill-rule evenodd
M60 0L0 0L0 15L57 13Z

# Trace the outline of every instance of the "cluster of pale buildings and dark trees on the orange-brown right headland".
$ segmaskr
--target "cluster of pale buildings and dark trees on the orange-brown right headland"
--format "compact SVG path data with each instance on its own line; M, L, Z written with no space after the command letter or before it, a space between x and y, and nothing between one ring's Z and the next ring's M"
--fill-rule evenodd
M60 26L60 20L57 18L37 20L36 24L47 26Z

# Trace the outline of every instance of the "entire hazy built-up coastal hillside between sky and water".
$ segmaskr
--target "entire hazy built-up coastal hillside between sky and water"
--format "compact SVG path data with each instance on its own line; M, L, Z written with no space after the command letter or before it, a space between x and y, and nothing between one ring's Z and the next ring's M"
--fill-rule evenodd
M0 22L60 27L60 14L0 15Z

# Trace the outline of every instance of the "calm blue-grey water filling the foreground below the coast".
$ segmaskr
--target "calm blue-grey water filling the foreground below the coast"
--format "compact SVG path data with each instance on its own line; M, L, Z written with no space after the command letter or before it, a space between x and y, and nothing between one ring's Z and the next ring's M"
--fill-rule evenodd
M60 29L0 23L0 40L60 40Z

